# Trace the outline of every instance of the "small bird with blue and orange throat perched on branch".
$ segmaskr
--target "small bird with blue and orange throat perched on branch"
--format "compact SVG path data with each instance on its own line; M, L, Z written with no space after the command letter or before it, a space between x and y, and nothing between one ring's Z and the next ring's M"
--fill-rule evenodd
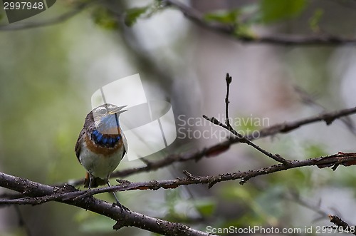
M75 144L75 155L87 170L84 187L95 188L109 183L111 173L127 152L127 140L120 128L119 115L126 106L110 103L94 108L85 118ZM117 197L114 193L115 199ZM117 203L121 206L120 202Z

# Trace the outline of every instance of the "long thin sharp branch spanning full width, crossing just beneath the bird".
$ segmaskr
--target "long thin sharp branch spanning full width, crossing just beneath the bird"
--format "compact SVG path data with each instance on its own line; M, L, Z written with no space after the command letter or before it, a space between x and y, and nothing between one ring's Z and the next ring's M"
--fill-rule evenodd
M285 164L271 165L266 168L261 168L257 170L248 170L246 172L239 171L236 173L224 173L220 175L194 176L191 173L184 171L184 174L187 175L187 178L177 178L175 180L161 180L161 181L151 180L148 182L137 182L137 183L132 183L127 180L117 180L120 183L120 185L115 185L112 187L105 187L105 188L95 188L95 189L85 190L85 191L77 190L73 188L71 185L66 185L63 188L58 188L58 187L41 185L39 183L36 183L36 185L39 185L40 187L47 186L48 188L52 188L51 193L46 194L48 190L46 190L46 192L43 192L44 190L40 189L42 193L40 196L31 195L31 197L24 197L20 199L0 199L0 205L1 204L38 205L48 201L66 202L68 200L85 199L87 197L90 197L91 195L95 195L98 193L128 191L128 190L158 190L160 188L172 189L182 185L206 184L208 185L208 188L211 188L216 183L229 181L229 180L238 180L238 179L240 180L240 184L243 185L244 183L247 182L247 180L250 180L251 178L254 178L256 176L268 175L282 170L289 170L293 168L300 168L300 167L312 166L312 165L316 165L318 168L333 166L333 170L335 170L336 166L339 165L349 166L349 165L355 165L355 163L356 163L356 153L337 153L334 155L328 155L320 158L311 158L308 160L293 160L290 161L288 165ZM6 176L6 174L0 173L0 177L1 174ZM9 181L11 182L11 180L8 180L8 182ZM29 183L32 183L32 181L29 180L23 180L23 181L28 181ZM9 183L6 184L8 187L5 187L3 183L1 183L1 178L0 178L0 186L14 190L14 187L11 187ZM34 188L37 187L35 186ZM19 190L19 192L21 191ZM26 195L25 193L23 194Z

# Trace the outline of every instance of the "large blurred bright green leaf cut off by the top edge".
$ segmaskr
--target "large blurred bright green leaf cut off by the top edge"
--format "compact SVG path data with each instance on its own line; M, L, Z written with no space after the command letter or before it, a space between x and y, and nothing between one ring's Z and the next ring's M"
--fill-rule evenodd
M298 16L307 0L262 0L260 2L261 21L271 23Z

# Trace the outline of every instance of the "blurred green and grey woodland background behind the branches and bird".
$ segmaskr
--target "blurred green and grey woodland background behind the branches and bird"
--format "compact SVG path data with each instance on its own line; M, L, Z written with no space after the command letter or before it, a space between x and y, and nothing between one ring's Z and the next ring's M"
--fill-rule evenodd
M83 178L85 170L75 158L74 145L91 110L92 94L136 73L147 85L147 97L169 101L176 119L177 139L147 157L152 161L226 140L224 130L201 118L205 114L224 121L226 73L233 78L229 114L242 133L355 106L354 45L283 46L241 43L236 37L352 38L356 1L180 2L204 14L206 21L237 24L239 32L226 36L203 29L181 11L162 7L164 1L58 1L19 24L51 21L71 11L73 17L21 30L11 30L17 24L9 24L0 11L0 171L48 185ZM79 4L86 7L79 11ZM314 123L256 144L290 160L353 152L352 120L350 116L348 125L340 120L329 126ZM174 164L127 180L169 180L182 177L182 170L218 175L273 164L251 147L236 144L214 158ZM145 165L141 160L127 161L118 170L141 165ZM245 185L237 180L211 189L192 185L118 195L131 210L202 231L209 225L302 230L330 225L328 217L316 210L355 225L354 169L298 168L253 178ZM98 197L112 201L108 194ZM0 235L152 235L132 227L115 232L114 224L57 202L0 208Z

